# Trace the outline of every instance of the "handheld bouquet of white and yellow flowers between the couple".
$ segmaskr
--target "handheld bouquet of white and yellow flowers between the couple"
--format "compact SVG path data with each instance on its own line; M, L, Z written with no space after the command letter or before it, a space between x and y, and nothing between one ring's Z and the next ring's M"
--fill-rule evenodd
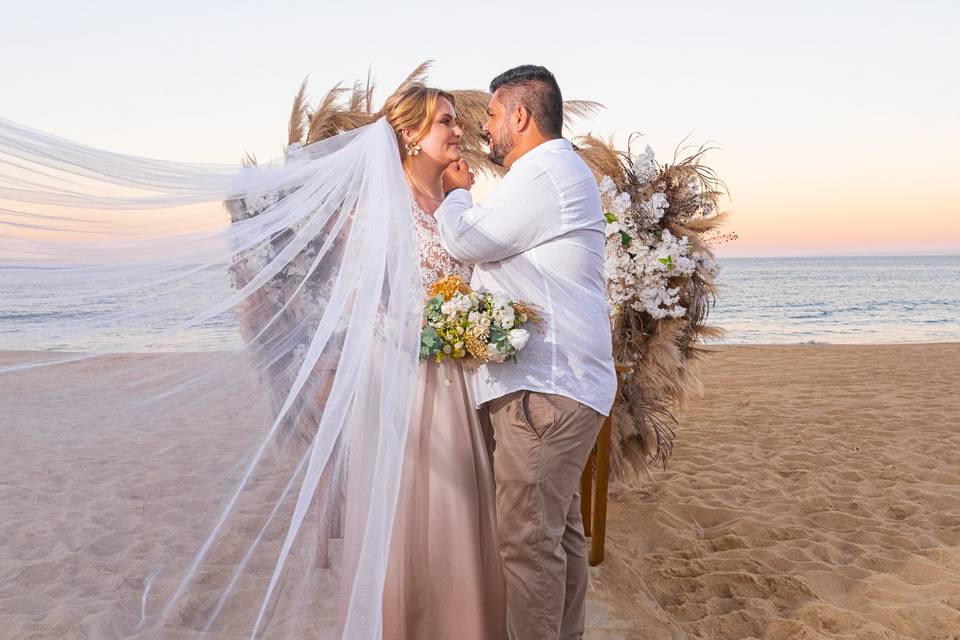
M424 306L420 361L467 359L475 363L516 361L530 333L521 328L540 321L522 302L474 291L457 276L435 282Z

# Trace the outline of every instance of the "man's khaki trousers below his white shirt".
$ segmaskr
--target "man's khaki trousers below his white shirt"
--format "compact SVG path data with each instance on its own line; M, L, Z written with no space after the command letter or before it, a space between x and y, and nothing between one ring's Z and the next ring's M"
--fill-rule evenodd
M603 417L565 396L518 391L484 405L493 432L497 533L511 640L578 640L587 542L580 474Z

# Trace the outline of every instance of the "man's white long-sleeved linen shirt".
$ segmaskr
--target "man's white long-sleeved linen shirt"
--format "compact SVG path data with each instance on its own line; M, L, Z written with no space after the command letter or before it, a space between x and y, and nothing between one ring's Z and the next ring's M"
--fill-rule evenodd
M482 365L477 406L514 391L567 396L609 415L616 393L597 183L568 140L531 149L482 204L456 189L434 214L444 250L475 264L471 286L537 307L517 362Z

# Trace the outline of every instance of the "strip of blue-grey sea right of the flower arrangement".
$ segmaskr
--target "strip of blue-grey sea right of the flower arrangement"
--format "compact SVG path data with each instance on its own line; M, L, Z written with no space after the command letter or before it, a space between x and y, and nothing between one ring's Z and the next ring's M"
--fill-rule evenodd
M725 344L960 341L960 256L721 258Z

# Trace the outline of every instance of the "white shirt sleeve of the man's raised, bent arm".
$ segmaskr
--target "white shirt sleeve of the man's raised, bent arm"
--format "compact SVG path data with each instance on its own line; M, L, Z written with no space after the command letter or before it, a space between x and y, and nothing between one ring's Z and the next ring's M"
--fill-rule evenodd
M444 250L470 264L504 260L563 233L557 187L532 162L511 169L483 204L455 189L434 215Z

